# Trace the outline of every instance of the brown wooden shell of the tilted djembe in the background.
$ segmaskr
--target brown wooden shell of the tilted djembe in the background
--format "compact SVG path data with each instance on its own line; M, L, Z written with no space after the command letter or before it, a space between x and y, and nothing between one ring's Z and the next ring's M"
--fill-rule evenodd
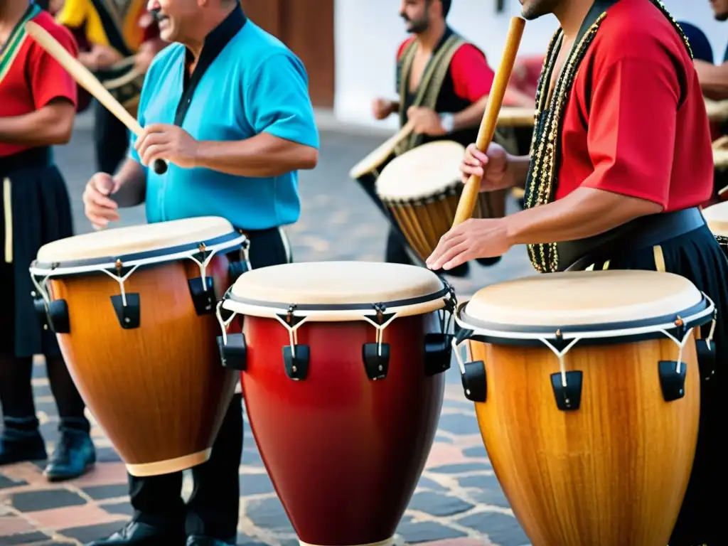
M462 186L422 199L381 199L416 255L425 261L455 220ZM503 218L506 190L478 194L472 218Z

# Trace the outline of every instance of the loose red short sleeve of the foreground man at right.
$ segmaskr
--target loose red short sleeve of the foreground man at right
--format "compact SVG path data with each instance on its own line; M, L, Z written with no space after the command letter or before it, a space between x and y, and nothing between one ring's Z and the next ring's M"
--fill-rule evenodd
M582 186L668 205L680 79L667 52L625 56L596 70Z

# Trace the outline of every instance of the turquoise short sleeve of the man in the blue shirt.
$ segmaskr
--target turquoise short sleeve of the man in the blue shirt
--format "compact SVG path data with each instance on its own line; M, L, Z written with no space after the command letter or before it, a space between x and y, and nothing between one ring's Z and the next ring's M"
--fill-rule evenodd
M244 97L248 122L255 132L318 149L319 134L303 63L295 55L272 55L250 81Z

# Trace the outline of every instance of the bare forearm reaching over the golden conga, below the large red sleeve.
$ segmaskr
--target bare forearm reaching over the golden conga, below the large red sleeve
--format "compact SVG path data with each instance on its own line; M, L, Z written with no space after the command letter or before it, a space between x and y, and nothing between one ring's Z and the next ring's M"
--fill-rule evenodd
M579 188L563 199L507 216L507 237L513 245L583 239L660 210L644 199Z

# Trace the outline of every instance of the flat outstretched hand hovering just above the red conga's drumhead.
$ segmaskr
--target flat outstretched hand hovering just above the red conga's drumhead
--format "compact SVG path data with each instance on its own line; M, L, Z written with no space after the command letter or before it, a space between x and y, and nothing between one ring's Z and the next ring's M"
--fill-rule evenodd
M448 270L475 258L503 256L512 246L507 218L470 218L440 237L426 264L433 271Z

